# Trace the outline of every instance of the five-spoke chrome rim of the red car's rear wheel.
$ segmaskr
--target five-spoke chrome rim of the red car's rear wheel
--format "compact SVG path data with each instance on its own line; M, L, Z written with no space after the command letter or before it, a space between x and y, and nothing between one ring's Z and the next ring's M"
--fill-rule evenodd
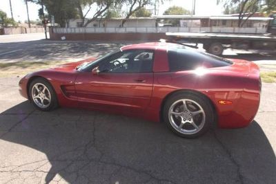
M181 134L196 134L204 127L204 109L195 101L181 99L175 101L168 111L170 125Z

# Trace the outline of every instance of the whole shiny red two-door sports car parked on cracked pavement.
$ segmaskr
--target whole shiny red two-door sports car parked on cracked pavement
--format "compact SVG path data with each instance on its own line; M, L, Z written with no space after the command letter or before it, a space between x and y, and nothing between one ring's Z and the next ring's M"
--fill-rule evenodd
M165 122L179 136L195 138L211 125L249 125L261 85L253 62L153 42L30 73L19 91L42 111L60 106L123 113Z

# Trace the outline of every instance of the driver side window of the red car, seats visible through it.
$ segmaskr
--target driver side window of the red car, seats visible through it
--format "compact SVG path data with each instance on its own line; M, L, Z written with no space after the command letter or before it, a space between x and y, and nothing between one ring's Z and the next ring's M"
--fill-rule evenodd
M153 50L126 50L99 63L101 73L150 73L152 72Z

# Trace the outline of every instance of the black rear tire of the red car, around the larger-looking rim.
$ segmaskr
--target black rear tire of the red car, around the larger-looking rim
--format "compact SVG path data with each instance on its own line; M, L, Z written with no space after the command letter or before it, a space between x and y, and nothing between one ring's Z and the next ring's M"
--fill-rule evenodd
M184 110L181 110L181 100L186 101L186 107L188 108L187 113ZM174 105L175 107L179 105L179 107L177 108L179 108L179 113L181 113L181 115L171 115L171 114L169 115L170 111L177 111L177 109L175 110L172 109ZM184 102L182 102L182 106L184 106ZM192 107L193 109L191 109ZM192 111L192 110L195 110L195 111ZM199 111L204 111L204 113L198 113L195 116L192 115L192 113L196 113ZM215 111L212 105L210 104L210 102L208 101L208 99L203 95L197 95L195 93L175 93L174 95L170 96L170 98L168 98L168 100L166 100L164 104L162 115L167 127L173 133L184 138L197 138L201 136L206 131L208 131L208 129L210 129L210 125L212 125L215 122ZM185 118L187 118L187 122L184 122L184 120L186 120ZM191 118L191 122L193 123L188 122L188 119L190 121L190 118ZM179 127L181 127L180 125L182 125L183 129L182 127L180 129L177 129L178 121L180 121ZM202 124L201 123L199 124L199 122L201 122ZM194 124L198 129L195 127ZM183 132L183 131L190 131L191 126L192 126L192 129L195 129L194 132L193 131Z

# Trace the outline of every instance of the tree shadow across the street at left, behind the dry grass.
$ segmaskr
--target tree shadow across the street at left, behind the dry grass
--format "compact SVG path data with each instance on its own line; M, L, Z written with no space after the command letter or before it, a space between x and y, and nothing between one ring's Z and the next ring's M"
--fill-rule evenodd
M0 43L3 60L56 61L70 58L95 57L110 53L123 44L99 44L95 42L60 42L37 40L29 42ZM13 52L15 50L15 52Z

